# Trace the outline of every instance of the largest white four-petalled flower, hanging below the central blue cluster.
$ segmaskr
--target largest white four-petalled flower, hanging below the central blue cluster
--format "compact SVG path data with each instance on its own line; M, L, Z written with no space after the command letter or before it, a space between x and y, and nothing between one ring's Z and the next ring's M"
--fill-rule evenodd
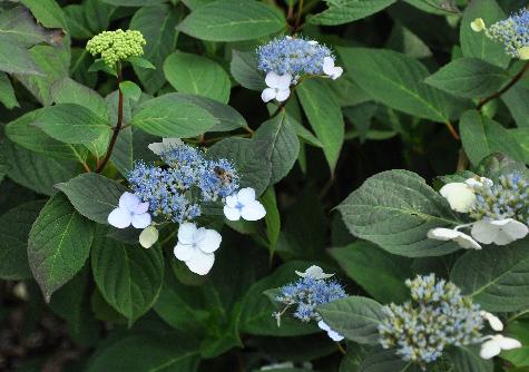
M192 272L206 275L215 263L214 252L221 246L222 239L221 234L214 229L183 223L178 228L178 243L174 253Z

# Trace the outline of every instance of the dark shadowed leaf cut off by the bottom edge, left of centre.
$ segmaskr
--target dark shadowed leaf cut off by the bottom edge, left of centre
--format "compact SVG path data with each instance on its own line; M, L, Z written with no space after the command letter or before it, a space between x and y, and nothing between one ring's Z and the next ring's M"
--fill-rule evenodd
M182 334L131 333L102 344L86 371L195 372L199 362L196 350L193 337Z

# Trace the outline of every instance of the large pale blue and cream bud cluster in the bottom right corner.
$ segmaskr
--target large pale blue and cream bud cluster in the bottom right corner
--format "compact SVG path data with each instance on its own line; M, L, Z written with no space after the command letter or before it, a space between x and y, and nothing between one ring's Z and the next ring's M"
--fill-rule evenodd
M434 274L406 281L412 301L383 307L380 343L396 349L404 361L430 363L449 346L478 342L483 327L479 305L450 282Z

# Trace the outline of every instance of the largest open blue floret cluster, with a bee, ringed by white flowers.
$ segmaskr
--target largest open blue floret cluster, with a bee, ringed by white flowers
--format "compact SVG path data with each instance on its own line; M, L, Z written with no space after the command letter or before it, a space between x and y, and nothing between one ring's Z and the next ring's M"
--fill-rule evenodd
M237 170L226 159L206 159L203 151L177 145L160 154L165 166L137 161L128 175L134 194L149 203L154 216L175 223L202 214L200 204L215 203L238 189Z

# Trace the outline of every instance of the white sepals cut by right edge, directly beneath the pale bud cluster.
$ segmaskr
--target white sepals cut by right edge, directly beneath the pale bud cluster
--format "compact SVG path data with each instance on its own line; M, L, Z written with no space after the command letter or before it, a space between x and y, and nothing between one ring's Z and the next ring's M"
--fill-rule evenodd
M512 218L504 219L481 219L472 225L472 237L480 243L507 245L517 239L526 237L529 228Z

